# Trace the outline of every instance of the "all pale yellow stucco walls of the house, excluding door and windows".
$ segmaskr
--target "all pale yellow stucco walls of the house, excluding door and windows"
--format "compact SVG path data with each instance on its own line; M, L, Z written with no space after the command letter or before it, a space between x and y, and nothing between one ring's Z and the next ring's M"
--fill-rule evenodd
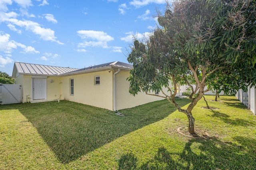
M117 70L116 70L117 71ZM100 85L95 85L95 76L100 76ZM126 78L129 71L121 70L116 74L116 109L125 109L138 105L163 100L157 96L149 96L144 92L132 96L129 93L129 82ZM22 85L22 102L32 101L32 79L40 76L19 75L16 77L16 83ZM46 78L46 76L43 76ZM42 77L42 78L43 78ZM70 94L70 79L74 79L74 95ZM46 79L46 100L70 100L87 104L90 106L101 107L113 110L114 102L114 71L105 70L78 74L72 76L48 76ZM167 89L164 89L167 92ZM153 94L155 92L152 92ZM159 95L162 95L159 92Z

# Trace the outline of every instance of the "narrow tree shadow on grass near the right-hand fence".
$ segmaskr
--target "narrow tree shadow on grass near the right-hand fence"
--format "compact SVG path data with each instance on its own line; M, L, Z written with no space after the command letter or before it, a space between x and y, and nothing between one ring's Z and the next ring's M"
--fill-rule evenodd
M220 120L224 121L225 123L228 123L230 125L234 125L234 126L255 126L256 124L252 121L248 121L245 119L241 119L241 118L235 118L235 119L230 119L229 115L225 114L225 113L221 113L218 110L211 110L211 112L213 113L212 115L209 115L211 117L218 117Z

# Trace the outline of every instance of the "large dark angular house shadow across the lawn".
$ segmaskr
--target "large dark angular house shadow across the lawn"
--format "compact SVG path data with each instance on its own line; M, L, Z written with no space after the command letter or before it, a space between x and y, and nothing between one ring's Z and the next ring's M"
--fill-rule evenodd
M178 102L184 106L189 101ZM166 105L171 104L162 100L124 109L120 111L124 116L65 100L60 103L22 104L18 109L36 127L60 162L66 164L176 111L174 106L159 111Z

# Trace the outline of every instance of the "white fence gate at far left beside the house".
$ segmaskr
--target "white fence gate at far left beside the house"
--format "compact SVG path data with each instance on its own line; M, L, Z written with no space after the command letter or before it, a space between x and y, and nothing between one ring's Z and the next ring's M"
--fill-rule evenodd
M0 104L21 103L20 84L0 84Z

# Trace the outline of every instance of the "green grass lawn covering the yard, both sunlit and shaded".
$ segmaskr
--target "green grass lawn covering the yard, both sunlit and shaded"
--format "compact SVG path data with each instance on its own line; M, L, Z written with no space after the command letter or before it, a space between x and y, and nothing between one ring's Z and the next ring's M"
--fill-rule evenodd
M0 169L255 169L256 116L235 97L214 97L219 110L200 100L192 111L204 140L177 133L188 120L167 100L124 116L69 101L0 105Z

